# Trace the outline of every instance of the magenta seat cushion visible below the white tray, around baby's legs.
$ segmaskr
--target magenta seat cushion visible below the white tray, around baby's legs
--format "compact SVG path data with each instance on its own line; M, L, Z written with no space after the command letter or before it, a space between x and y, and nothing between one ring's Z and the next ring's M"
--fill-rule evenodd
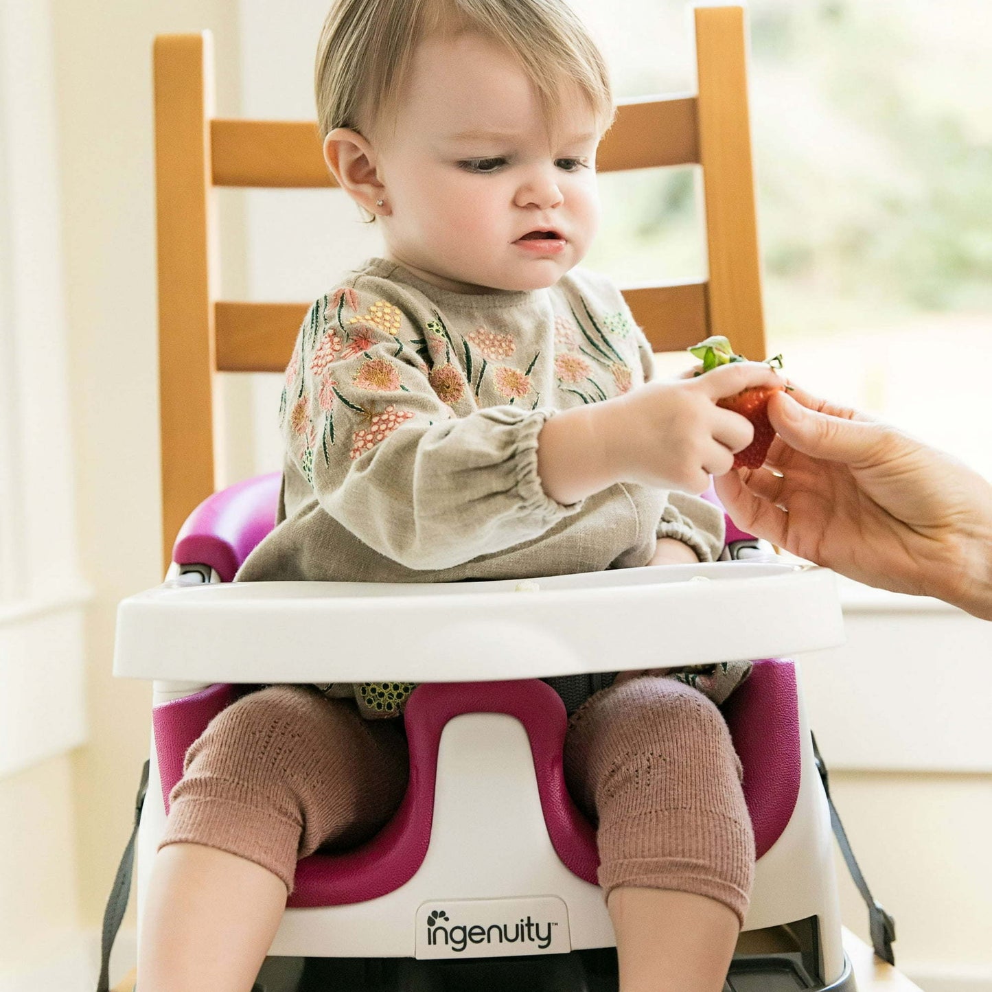
M183 772L183 757L213 715L239 687L211 685L155 707L153 725L163 799ZM371 840L339 854L312 854L297 867L289 905L337 906L375 899L399 888L420 868L431 841L437 747L444 724L465 712L507 713L531 741L538 793L558 857L579 878L595 883L595 831L564 785L561 750L567 725L558 693L539 680L422 684L407 703L410 784L393 818ZM792 815L799 795L800 739L792 662L761 661L724 707L744 766L744 795L761 857Z

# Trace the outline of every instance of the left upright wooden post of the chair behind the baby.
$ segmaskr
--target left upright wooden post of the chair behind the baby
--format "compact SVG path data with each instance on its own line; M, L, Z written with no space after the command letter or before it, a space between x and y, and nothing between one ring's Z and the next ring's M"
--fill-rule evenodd
M213 492L213 292L218 272L209 32L155 40L159 402L165 566L186 515Z

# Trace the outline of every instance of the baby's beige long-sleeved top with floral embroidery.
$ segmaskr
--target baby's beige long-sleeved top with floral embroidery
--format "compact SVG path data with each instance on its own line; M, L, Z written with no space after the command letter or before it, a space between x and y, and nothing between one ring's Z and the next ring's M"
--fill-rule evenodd
M538 577L645 565L658 537L717 558L723 517L703 500L618 483L565 506L541 486L546 420L652 374L644 333L602 276L471 295L370 259L300 329L278 526L237 580ZM406 690L356 695L366 715L395 715Z

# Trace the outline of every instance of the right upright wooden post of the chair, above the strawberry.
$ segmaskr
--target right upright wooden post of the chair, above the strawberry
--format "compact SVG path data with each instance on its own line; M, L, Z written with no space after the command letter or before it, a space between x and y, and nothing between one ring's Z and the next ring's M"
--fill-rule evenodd
M723 334L735 351L762 361L767 356L744 9L698 7L694 14L699 162L709 255L709 333Z

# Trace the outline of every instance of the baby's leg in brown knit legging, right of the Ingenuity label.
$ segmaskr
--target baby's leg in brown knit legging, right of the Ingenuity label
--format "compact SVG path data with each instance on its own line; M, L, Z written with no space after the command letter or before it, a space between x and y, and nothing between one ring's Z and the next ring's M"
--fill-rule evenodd
M599 828L622 992L719 992L747 909L754 834L723 717L646 676L572 714L565 777Z

